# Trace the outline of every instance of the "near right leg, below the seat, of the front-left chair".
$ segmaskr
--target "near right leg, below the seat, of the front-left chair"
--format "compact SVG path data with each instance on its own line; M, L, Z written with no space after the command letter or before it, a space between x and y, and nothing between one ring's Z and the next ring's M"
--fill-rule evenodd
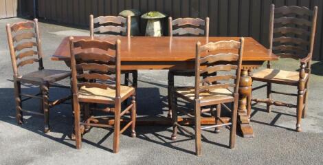
M119 152L120 143L120 111L121 99L115 99L115 114L114 114L114 131L113 131L113 153Z

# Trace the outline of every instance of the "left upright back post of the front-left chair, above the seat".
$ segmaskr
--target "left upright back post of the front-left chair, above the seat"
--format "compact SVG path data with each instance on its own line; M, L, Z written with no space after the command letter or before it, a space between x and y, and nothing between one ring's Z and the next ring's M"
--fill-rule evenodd
M78 94L78 79L76 78L76 59L74 56L74 38L69 37L69 53L71 54L71 89L73 94Z

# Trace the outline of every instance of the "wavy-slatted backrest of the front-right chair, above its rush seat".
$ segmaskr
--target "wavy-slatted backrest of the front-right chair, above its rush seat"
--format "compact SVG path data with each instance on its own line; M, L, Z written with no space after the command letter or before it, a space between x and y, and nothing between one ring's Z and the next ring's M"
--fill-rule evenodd
M201 43L197 43L195 99L199 99L200 92L219 88L228 89L232 87L234 88L233 94L238 94L244 42L245 40L241 38L240 41L219 41L202 46ZM218 54L211 54L212 52L218 52ZM238 54L232 52L238 52ZM235 71L235 73L232 74L232 71ZM225 72L225 74L218 75L219 72ZM214 76L214 73L216 73L216 76ZM201 76L203 76L202 80Z

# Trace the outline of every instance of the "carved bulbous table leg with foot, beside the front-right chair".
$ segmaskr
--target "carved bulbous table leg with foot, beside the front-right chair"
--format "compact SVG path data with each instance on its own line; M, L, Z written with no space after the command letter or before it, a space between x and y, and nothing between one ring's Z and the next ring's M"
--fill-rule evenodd
M251 94L252 78L248 74L248 69L242 69L239 83L238 127L243 137L254 137L254 131L247 115L247 99L251 97Z

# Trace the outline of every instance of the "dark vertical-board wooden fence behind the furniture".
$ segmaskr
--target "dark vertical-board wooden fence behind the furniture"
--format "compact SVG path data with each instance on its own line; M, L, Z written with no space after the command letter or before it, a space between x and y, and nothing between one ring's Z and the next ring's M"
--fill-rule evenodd
M318 5L318 30L314 59L323 60L323 0L39 0L38 17L87 26L89 14L117 15L130 8L142 12L157 10L173 18L210 17L212 36L252 36L268 45L269 6L302 5L313 9ZM164 29L166 29L164 21ZM144 32L145 21L140 21Z

